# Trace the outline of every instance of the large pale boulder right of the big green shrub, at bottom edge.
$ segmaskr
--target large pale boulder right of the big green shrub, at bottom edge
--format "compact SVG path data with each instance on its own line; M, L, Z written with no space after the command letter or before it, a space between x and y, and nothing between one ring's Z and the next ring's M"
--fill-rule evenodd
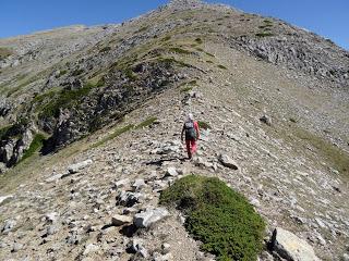
M274 229L270 245L273 251L286 260L320 261L305 240L280 227Z

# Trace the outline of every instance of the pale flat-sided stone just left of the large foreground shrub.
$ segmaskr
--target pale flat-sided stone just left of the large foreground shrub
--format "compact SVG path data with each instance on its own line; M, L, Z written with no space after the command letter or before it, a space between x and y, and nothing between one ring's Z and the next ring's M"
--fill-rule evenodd
M133 223L136 227L149 227L167 216L169 216L169 212L165 208L147 209L144 212L135 214Z

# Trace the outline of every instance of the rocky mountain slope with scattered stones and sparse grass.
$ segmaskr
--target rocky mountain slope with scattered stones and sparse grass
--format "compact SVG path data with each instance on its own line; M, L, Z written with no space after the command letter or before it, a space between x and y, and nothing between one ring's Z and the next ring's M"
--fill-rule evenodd
M111 225L157 208L159 190L189 173L243 192L269 233L293 232L322 260L348 257L347 51L279 20L183 0L0 47L1 259L212 259L173 210L151 229ZM194 161L179 140L188 112L210 126ZM38 135L47 156L29 157ZM131 209L127 190L139 192Z

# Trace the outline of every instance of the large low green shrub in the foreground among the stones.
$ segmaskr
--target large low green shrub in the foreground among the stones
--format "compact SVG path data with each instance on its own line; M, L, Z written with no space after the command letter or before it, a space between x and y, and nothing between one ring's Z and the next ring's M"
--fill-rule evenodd
M181 210L188 232L217 260L256 260L265 223L242 195L217 177L183 177L161 192L160 203Z

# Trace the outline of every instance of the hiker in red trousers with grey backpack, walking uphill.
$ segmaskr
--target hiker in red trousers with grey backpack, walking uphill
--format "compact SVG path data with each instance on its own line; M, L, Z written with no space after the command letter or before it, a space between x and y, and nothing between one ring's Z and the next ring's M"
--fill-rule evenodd
M188 115L186 121L184 122L183 128L182 128L182 134L181 134L181 139L182 142L183 140L183 134L185 133L185 144L186 144L186 152L188 152L188 158L191 159L193 154L196 152L197 145L196 140L200 137L198 133L198 124L193 120L193 114L190 113Z

